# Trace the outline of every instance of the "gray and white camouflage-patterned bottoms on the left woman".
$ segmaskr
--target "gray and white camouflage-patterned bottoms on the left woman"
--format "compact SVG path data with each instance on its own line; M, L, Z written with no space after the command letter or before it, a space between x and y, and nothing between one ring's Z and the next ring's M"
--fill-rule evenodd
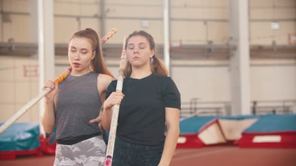
M104 166L106 144L95 136L74 145L56 144L54 166Z

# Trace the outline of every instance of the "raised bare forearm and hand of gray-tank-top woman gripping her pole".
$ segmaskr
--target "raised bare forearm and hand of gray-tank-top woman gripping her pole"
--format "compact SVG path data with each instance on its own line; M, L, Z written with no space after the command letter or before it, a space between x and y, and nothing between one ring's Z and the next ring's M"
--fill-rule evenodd
M49 80L44 85L43 89L46 87L52 88L52 90L45 96L44 110L41 116L41 124L46 133L51 133L55 129L55 96L57 92L57 83Z

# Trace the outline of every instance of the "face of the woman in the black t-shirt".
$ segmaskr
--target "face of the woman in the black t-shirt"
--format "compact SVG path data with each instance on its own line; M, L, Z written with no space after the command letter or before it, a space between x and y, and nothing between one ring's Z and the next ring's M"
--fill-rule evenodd
M131 66L140 67L149 64L149 59L154 55L150 50L149 41L141 35L129 38L127 47L127 58Z

